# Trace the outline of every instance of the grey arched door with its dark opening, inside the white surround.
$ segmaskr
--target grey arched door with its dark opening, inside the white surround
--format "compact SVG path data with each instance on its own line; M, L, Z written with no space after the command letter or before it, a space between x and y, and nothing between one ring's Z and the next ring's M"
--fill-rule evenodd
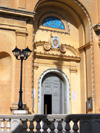
M48 73L42 81L44 114L64 112L64 81L56 73Z

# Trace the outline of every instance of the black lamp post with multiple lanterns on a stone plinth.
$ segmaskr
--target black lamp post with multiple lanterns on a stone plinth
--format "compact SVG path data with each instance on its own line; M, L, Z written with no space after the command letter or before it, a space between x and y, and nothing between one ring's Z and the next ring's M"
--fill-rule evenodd
M26 60L30 54L31 50L27 47L26 49L18 49L17 46L14 50L12 50L14 56L17 60L21 60L21 73L20 73L20 91L19 91L19 103L18 103L18 110L23 110L23 101L22 101L22 70L23 70L23 60Z

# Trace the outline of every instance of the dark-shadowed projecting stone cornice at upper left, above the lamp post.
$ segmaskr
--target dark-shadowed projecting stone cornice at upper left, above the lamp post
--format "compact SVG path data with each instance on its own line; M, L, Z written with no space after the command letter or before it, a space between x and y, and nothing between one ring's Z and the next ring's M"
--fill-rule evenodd
M35 12L29 12L26 10L8 8L3 6L0 6L0 13L14 15L14 16L28 17L28 18L33 18L35 15Z

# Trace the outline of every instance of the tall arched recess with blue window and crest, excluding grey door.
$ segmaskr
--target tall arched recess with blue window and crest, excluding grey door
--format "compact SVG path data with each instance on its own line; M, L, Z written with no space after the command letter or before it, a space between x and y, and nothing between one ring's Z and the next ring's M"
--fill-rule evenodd
M89 80L92 75L93 58L90 57L93 56L93 45L88 11L78 0L39 0L34 11L34 64L38 75L42 70L52 67L64 71L71 84L69 98L65 85L68 81L64 82L64 113L70 112L69 99L71 113L86 113L87 98L92 96L93 87ZM61 76L61 73L58 75ZM66 78L62 79L65 81ZM43 114L45 107L42 95L46 99L47 94L42 94L41 82L42 80L38 91L38 113ZM48 97L51 99L51 96Z

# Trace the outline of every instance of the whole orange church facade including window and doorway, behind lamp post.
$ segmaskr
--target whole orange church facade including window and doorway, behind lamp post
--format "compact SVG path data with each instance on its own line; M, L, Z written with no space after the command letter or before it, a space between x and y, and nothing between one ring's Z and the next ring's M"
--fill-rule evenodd
M20 61L29 114L100 112L100 1L0 0L0 114L17 109Z

